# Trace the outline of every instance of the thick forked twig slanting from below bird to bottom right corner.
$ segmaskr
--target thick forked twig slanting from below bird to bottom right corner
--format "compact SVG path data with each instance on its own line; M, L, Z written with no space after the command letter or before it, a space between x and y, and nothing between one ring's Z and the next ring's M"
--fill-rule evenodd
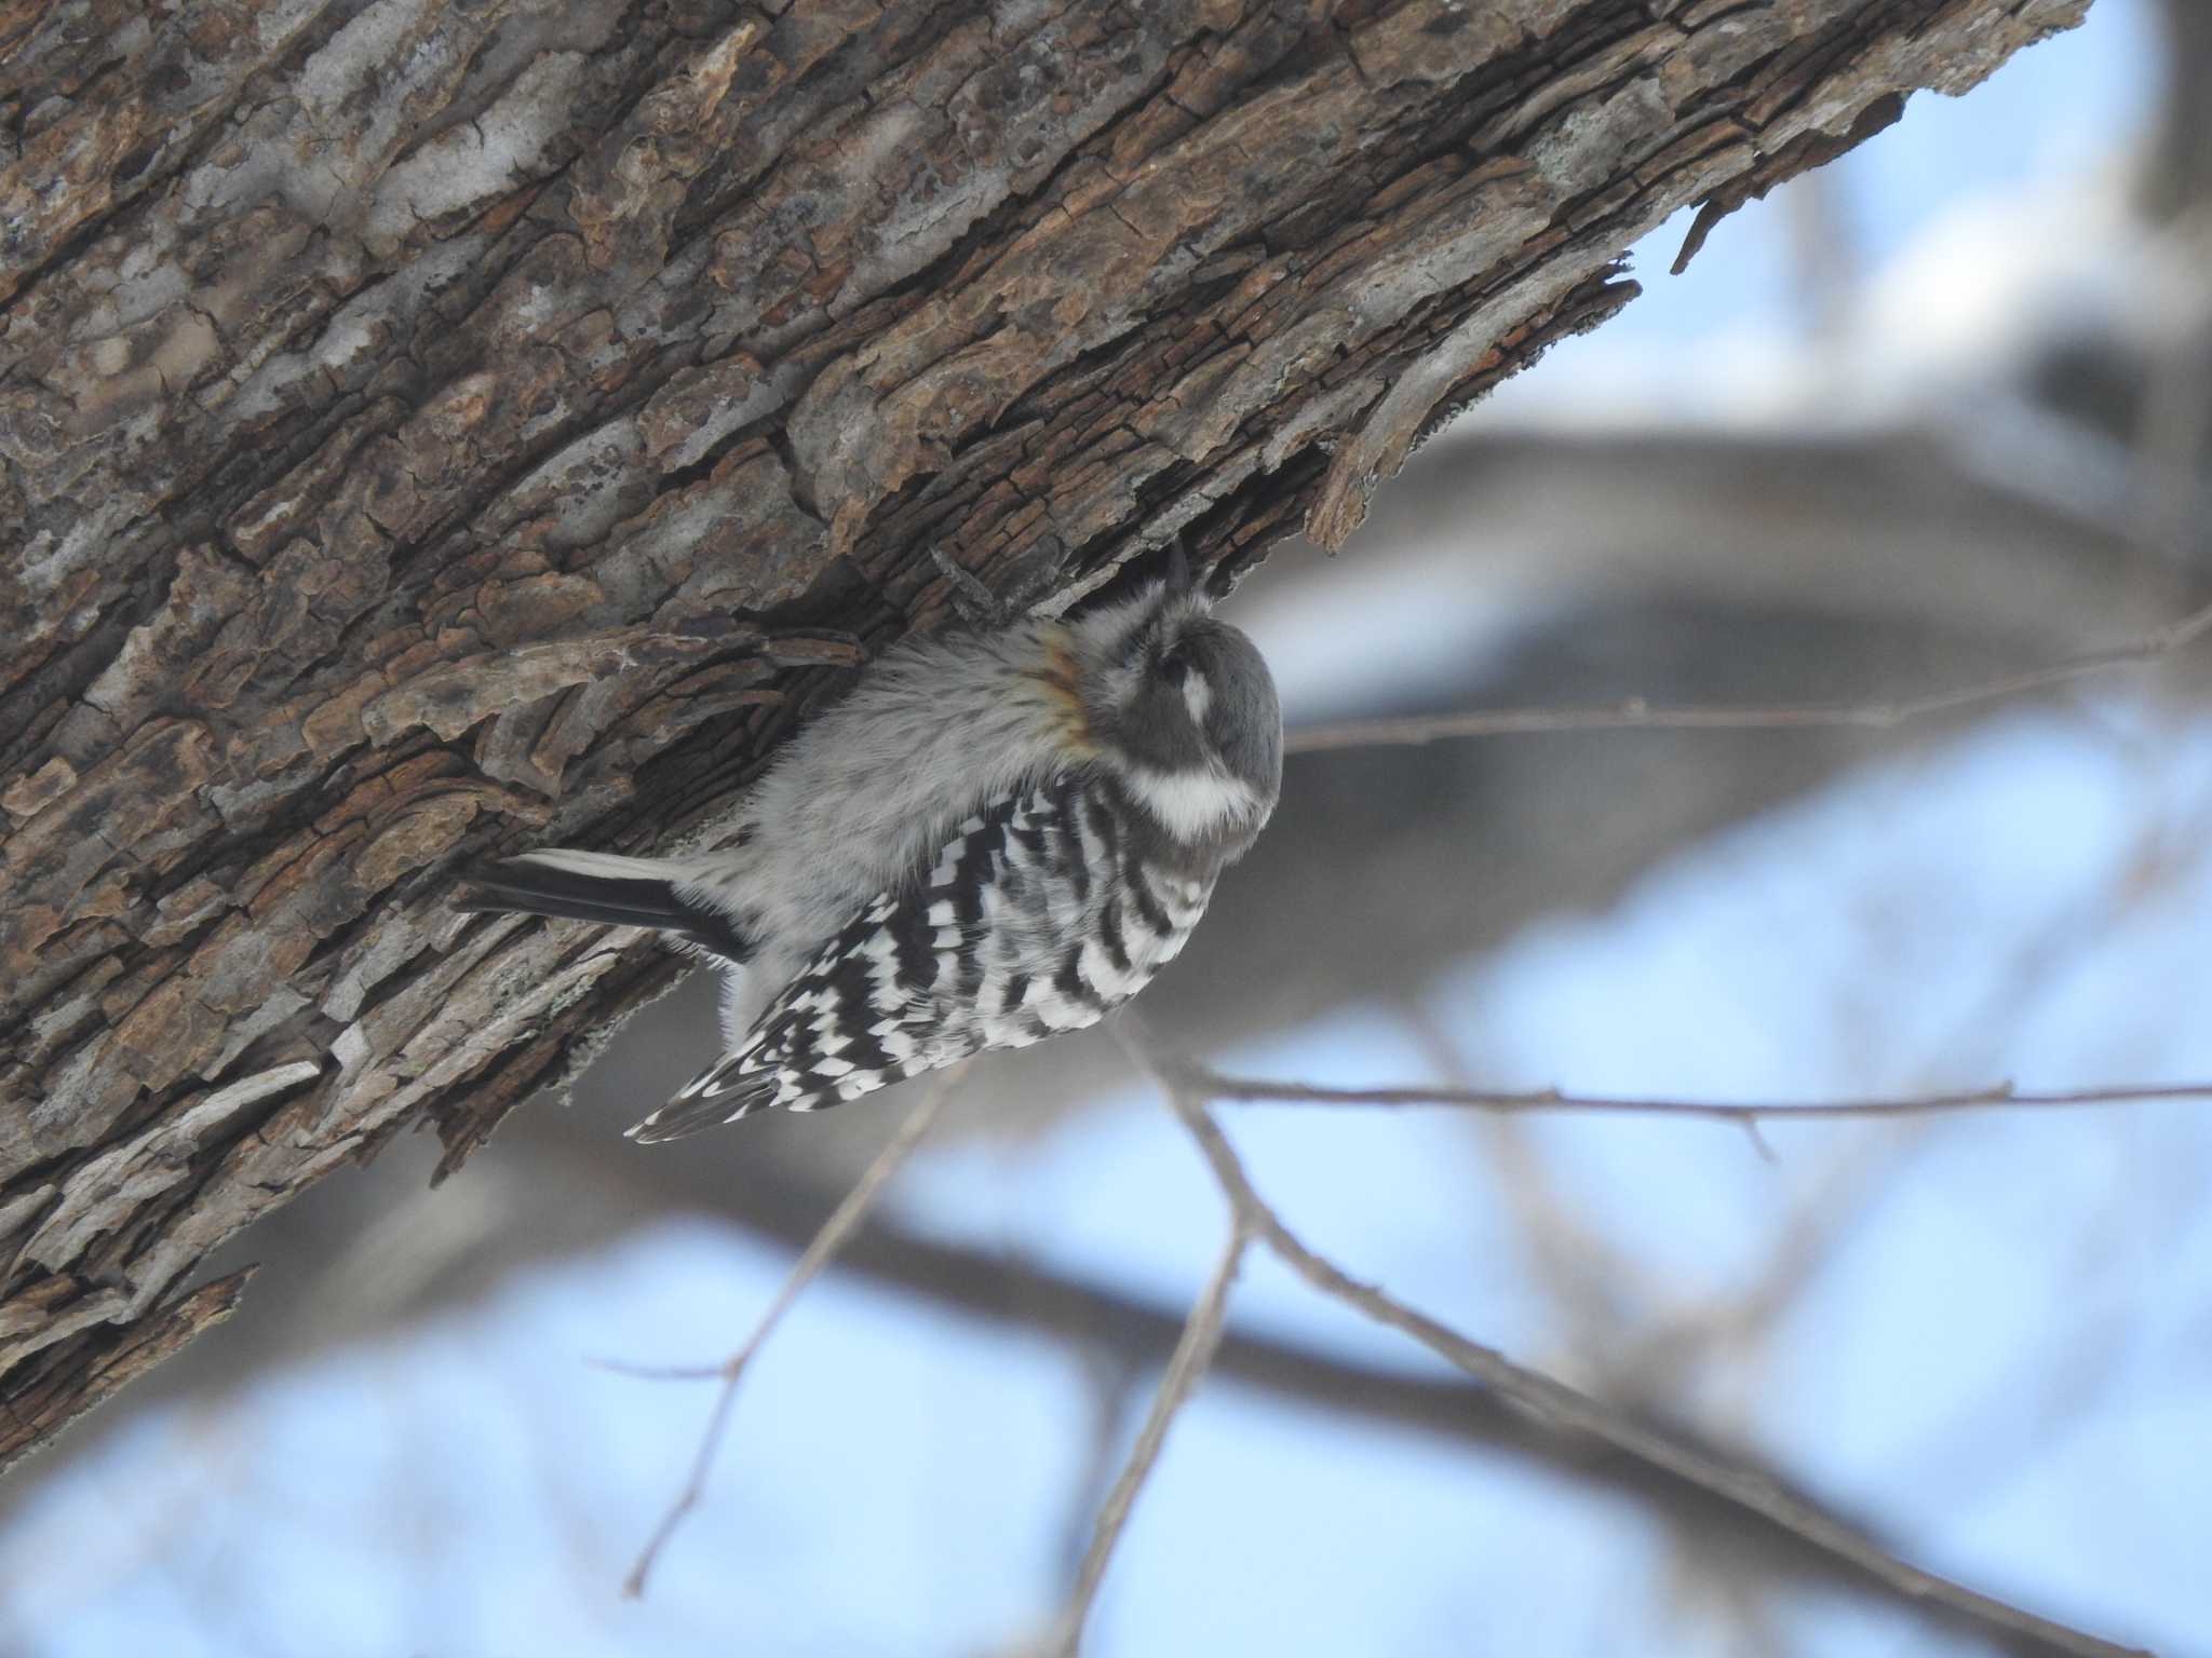
M1588 1397L1586 1393L1577 1393L1564 1382L1555 1382L1542 1371L1524 1368L1504 1353L1467 1340L1447 1324L1438 1324L1427 1313L1385 1295L1374 1284L1358 1282L1325 1256L1307 1249L1305 1242L1283 1225L1274 1209L1267 1207L1245 1174L1237 1150L1221 1132L1219 1123L1208 1116L1206 1105L1197 1099L1188 1077L1177 1079L1161 1072L1152 1057L1144 1052L1144 1048L1137 1046L1126 1030L1119 1035L1137 1063L1152 1070L1166 1085L1168 1101L1183 1119L1192 1138L1197 1138L1199 1150L1212 1167L1221 1192L1228 1196L1232 1211L1243 1218L1243 1225L1252 1229L1252 1236L1259 1242L1267 1245L1267 1249L1272 1249L1285 1267L1305 1278L1305 1282L1323 1295L1358 1309L1378 1324L1387 1324L1389 1329L1411 1335L1431 1353L1449 1364L1455 1364L1460 1371L1498 1393L1498 1397L1528 1413L1537 1421L1564 1433L1595 1439L1597 1444L1610 1446L1635 1461L1666 1468L1701 1490L1710 1490L1730 1503L1750 1508L1770 1519L1774 1525L1805 1539L1820 1552L1845 1561L1858 1572L1889 1585L1916 1603L1940 1607L1951 1616L1980 1625L1989 1634L2002 1636L2011 1643L2031 1643L2053 1654L2070 1654L2073 1658L2143 1658L2143 1654L2135 1647L2119 1647L2099 1636L2053 1623L2051 1618L2039 1618L2033 1612L1995 1601L1986 1594L1978 1594L1975 1589L1953 1583L1951 1578L1924 1572L1922 1567L1898 1559L1863 1532L1820 1512L1814 1503L1794 1497L1772 1475L1672 1439L1635 1417Z

